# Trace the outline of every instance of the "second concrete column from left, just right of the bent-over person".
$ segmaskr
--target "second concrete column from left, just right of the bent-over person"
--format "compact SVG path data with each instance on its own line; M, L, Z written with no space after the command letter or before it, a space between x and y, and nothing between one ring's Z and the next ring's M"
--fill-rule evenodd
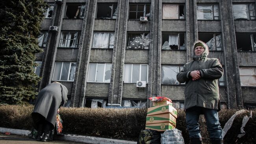
M97 0L87 0L80 37L79 51L76 63L76 76L73 83L71 104L73 107L83 107L85 103L85 89L88 76L93 28Z

